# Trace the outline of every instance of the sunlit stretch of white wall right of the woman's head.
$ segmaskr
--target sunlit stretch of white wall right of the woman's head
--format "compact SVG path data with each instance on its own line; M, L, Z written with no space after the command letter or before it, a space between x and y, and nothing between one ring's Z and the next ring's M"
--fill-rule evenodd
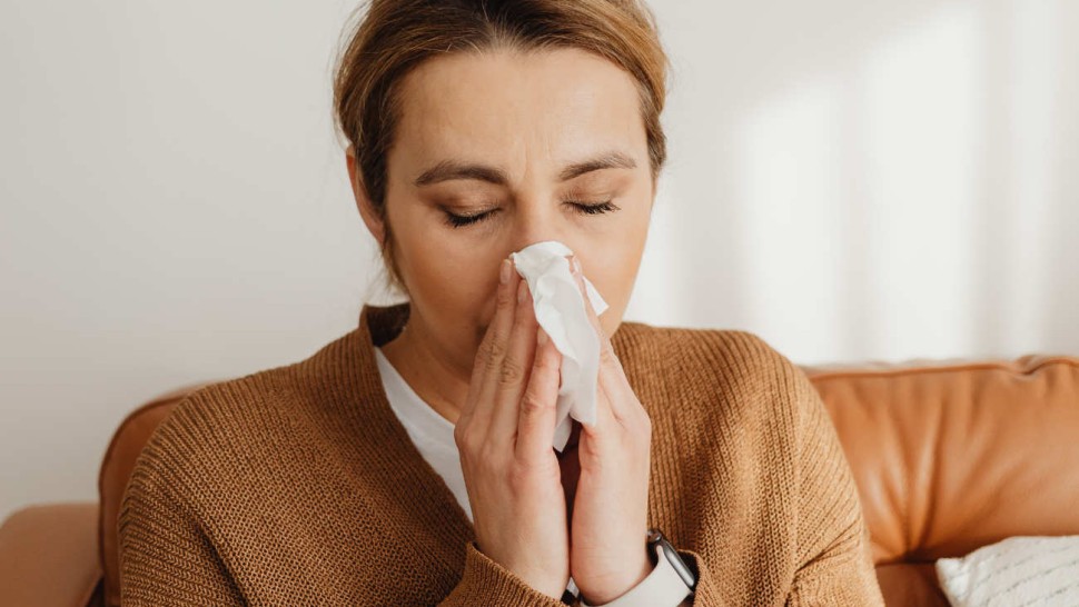
M1079 6L653 6L674 74L642 316L805 362L1079 351Z

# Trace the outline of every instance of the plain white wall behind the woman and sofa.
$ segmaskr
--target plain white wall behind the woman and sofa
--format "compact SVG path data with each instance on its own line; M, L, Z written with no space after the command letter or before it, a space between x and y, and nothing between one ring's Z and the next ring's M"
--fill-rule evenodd
M1079 354L1079 3L652 6L671 156L627 319L798 362ZM96 499L145 399L355 326L352 7L0 3L0 517Z

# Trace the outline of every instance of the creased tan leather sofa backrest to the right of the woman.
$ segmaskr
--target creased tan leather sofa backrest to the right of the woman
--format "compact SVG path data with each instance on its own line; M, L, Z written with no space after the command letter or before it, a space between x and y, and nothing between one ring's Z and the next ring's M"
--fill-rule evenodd
M890 603L948 605L938 558L1079 534L1079 358L804 370L851 464Z

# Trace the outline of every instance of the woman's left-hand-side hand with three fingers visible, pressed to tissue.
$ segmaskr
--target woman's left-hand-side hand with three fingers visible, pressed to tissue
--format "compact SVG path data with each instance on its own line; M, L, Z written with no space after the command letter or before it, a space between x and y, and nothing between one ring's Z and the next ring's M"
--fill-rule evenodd
M497 308L476 355L454 440L481 551L561 598L570 581L570 538L552 444L562 355L544 342L528 285L509 259L499 272Z

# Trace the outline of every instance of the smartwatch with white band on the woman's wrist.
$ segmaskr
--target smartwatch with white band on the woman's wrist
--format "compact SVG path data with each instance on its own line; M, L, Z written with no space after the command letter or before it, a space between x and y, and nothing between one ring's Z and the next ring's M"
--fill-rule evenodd
M693 594L696 577L663 533L649 529L646 541L652 573L626 594L602 606L585 603L581 597L582 607L677 607Z

